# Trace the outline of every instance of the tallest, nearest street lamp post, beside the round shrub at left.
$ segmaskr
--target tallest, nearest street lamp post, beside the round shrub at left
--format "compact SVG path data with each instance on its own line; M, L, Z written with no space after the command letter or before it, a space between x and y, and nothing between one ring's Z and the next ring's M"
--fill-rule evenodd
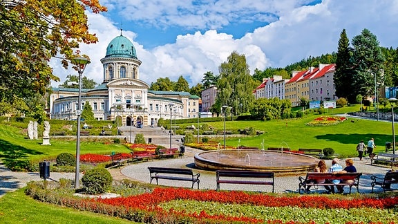
M79 73L79 97L77 100L77 133L76 133L76 167L75 167L75 189L79 188L79 166L80 166L80 116L82 115L82 75L90 61L84 57L75 57L72 63L77 66Z

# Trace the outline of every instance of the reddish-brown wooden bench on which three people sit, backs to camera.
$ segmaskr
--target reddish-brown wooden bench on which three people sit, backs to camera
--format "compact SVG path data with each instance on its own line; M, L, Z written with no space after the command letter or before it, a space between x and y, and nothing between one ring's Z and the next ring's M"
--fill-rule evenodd
M308 172L305 178L299 176L299 194L301 193L301 189L304 189L304 192L307 192L307 187L310 186L349 186L350 193L352 186L354 186L357 187L357 192L359 193L359 178L361 178L361 176L362 173L331 174ZM354 180L354 183L312 183L310 180Z

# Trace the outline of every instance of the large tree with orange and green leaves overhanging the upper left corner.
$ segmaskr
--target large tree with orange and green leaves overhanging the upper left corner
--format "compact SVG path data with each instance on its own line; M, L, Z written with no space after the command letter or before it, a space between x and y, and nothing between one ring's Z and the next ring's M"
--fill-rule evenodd
M26 0L0 2L1 98L44 95L59 78L48 65L52 57L66 68L79 55L79 43L97 42L88 32L84 10L105 11L98 0Z

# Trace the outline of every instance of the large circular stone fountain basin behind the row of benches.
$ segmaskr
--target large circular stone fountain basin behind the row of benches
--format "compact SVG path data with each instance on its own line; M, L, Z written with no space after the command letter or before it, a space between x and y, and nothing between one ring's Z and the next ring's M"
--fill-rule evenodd
M256 149L216 150L197 153L196 167L297 173L313 170L319 159L300 153Z

